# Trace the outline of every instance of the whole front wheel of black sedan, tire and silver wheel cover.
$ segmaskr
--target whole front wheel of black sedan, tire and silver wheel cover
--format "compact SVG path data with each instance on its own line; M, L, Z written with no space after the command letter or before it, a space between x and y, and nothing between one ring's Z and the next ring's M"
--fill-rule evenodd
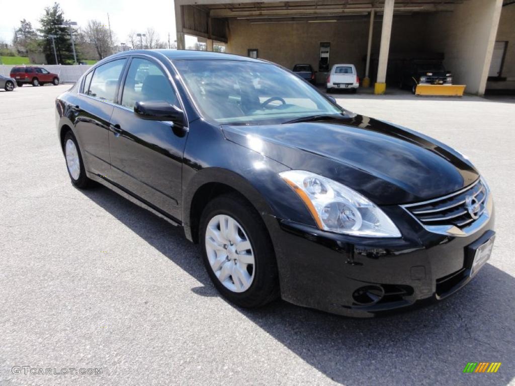
M237 195L222 195L204 208L200 220L202 258L218 291L246 308L279 296L276 257L265 224Z

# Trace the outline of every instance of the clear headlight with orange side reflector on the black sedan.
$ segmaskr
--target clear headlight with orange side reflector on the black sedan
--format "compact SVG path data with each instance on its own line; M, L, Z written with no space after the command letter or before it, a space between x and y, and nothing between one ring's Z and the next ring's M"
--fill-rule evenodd
M390 218L357 191L304 170L279 175L302 199L319 229L352 236L401 237Z

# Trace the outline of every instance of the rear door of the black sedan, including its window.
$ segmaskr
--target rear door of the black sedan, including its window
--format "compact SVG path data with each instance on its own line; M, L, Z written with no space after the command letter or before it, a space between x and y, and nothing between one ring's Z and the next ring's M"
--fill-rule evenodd
M104 178L111 172L109 119L126 62L126 58L115 59L88 73L73 107L75 135L87 170Z

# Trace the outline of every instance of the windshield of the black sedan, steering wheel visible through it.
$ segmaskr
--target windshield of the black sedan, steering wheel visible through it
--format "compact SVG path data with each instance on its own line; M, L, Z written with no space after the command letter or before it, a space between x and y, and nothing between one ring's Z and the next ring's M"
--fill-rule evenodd
M273 64L236 60L174 64L201 114L218 125L279 124L342 112L305 81Z

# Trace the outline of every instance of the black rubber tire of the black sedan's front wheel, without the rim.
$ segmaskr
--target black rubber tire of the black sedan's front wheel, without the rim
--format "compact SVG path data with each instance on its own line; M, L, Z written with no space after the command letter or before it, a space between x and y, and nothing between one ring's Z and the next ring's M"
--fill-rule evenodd
M254 279L244 292L226 288L213 272L205 249L205 233L209 221L216 215L228 215L242 225L254 252ZM279 275L276 256L268 231L255 208L236 194L215 197L204 208L200 218L199 242L202 259L209 277L218 291L239 307L264 306L279 297Z

